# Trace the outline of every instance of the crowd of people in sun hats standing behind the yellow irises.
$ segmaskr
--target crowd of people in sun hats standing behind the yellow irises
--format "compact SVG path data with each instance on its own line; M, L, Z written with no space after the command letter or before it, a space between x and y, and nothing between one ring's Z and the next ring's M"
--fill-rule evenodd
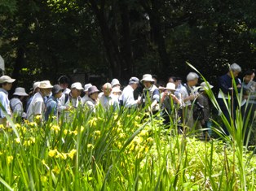
M255 119L256 107L256 82L254 71L245 72L243 80L237 78L241 67L233 63L227 74L218 78L218 104L223 115L230 123L236 118L238 100L236 93L243 94L243 111L248 115L251 108L250 121ZM232 79L235 80L232 80ZM13 118L42 121L58 118L60 114L78 107L86 107L91 112L96 112L98 106L105 111L119 111L121 107L136 109L152 115L160 113L164 124L172 121L186 124L190 129L210 128L210 100L207 91L213 88L209 82L203 81L198 85L200 77L195 72L189 72L186 83L179 77L170 77L168 83L157 85L155 76L144 74L142 79L133 76L128 85L121 88L119 80L113 79L105 83L101 91L90 83L82 86L80 82L70 83L68 76L60 76L57 85L51 85L49 80L42 80L33 84L33 93L29 97L25 89L17 87L9 100L8 91L15 79L10 76L0 77L0 125L8 126L7 115ZM143 85L139 95L135 89ZM69 89L70 88L70 89ZM235 89L237 91L235 91ZM226 106L226 99L232 100L232 115ZM179 129L181 130L181 129ZM223 125L224 132L228 135L228 128Z

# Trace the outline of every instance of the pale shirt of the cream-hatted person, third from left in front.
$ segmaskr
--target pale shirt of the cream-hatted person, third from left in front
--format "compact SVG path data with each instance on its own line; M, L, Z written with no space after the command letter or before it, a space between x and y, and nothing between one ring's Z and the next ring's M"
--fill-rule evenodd
M27 111L27 119L33 121L34 115L42 115L45 111L45 103L40 92L34 94L29 109ZM43 115L42 115L43 116Z

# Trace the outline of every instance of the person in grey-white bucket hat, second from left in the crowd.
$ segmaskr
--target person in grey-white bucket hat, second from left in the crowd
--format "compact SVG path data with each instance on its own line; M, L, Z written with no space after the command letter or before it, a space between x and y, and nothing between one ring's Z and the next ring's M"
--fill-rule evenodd
M18 87L15 89L15 93L13 93L13 98L11 98L10 101L11 111L13 112L15 117L25 117L25 113L23 112L23 101L24 98L27 96L29 96L29 94L26 93L24 88Z

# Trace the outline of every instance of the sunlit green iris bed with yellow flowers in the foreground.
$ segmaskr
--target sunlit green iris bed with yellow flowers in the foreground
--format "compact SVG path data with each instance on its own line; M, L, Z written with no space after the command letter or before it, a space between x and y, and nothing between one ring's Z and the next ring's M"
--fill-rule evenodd
M69 122L11 124L0 132L0 190L254 190L256 158L236 112L231 136L216 122L221 138L209 141L136 110L80 108Z

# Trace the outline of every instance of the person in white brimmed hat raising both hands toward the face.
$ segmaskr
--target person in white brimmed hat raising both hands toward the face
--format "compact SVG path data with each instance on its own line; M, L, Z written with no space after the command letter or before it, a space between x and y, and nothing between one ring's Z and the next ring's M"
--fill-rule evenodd
M170 117L178 121L178 109L182 106L180 93L176 92L176 85L172 82L167 83L164 92L161 93L161 115L165 119L164 124L170 124Z

